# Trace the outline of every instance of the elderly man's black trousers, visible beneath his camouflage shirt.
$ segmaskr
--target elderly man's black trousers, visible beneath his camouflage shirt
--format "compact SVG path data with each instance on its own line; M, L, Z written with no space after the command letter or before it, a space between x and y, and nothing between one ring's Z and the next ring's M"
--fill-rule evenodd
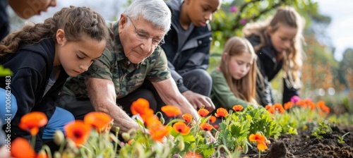
M157 90L155 90L155 87L153 87L152 83L148 80L145 80L143 85L141 85L141 87L137 90L131 92L125 97L116 99L116 104L119 104L119 106L126 111L126 114L132 116L130 107L132 102L136 101L138 98L147 99L148 102L150 102L150 109L155 111L155 113L157 111L161 111L160 108L165 105L158 95ZM95 108L90 100L79 100L67 95L60 96L56 103L58 104L58 107L62 107L63 109L70 111L75 119L83 120L85 114L95 111Z

